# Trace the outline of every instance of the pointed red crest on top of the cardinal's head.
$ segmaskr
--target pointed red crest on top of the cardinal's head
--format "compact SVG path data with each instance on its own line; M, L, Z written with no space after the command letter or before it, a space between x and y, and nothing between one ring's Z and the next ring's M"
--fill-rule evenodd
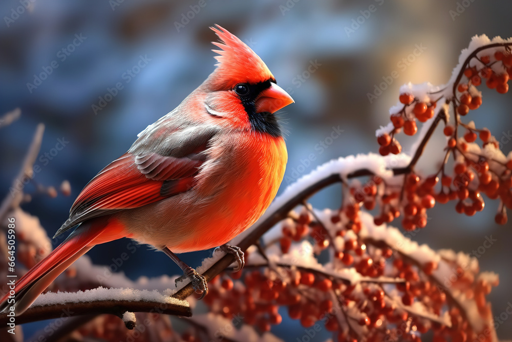
M237 36L219 25L211 29L221 40L221 43L212 42L222 49L212 50L219 54L215 56L219 62L215 70L218 86L232 88L238 83L256 84L274 79L262 59Z

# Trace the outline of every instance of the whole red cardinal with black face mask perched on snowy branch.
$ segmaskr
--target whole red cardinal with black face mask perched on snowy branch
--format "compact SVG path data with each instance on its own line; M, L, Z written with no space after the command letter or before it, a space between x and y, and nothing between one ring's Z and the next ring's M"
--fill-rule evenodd
M223 246L263 214L287 161L273 113L293 103L254 51L211 29L221 40L217 68L80 192L55 236L78 227L17 281L14 297L3 296L1 311L23 313L81 255L122 237L165 252L206 293L204 277L172 251ZM237 247L224 250L243 265Z

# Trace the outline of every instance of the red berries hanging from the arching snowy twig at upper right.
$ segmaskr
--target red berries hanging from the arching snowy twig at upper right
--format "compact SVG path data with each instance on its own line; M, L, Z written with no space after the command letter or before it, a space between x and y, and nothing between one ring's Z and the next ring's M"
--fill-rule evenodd
M485 84L489 89L496 89L499 93L508 91L508 81L512 77L512 53L503 49L489 55L475 55L480 67L467 67L460 74L456 85L455 97L447 99L452 103L456 115L464 116L470 110L477 109L482 104L482 97L476 87ZM501 72L496 72L501 70ZM454 88L455 89L455 88ZM391 115L393 129L390 133L382 133L377 137L381 155L400 153L401 147L395 134L403 129L408 135L417 132L416 119L425 122L434 115L438 98L432 102L421 102L412 94L402 93L399 96L403 108ZM465 128L462 137L458 136L460 128ZM469 144L477 144L481 140L481 147L492 144L499 149L499 144L486 128L476 129L474 125L455 120L455 125L446 124L443 133L447 136L446 158L453 153L457 162L453 167L453 174L446 173L445 165L436 174L421 178L416 174L406 176L404 192L385 191L382 196L380 216L375 217L375 223L391 222L394 218L403 215L402 226L406 230L423 228L426 225L426 209L432 208L436 202L447 203L457 200L456 211L472 216L483 210L482 194L491 199L500 199L500 210L495 220L498 224L507 222L506 208L512 209L512 160L506 158L492 159L475 153L474 149L468 151ZM503 161L504 160L504 161ZM439 182L440 181L440 182ZM437 185L440 183L440 185ZM398 199L396 199L398 198ZM366 206L366 203L365 203Z

